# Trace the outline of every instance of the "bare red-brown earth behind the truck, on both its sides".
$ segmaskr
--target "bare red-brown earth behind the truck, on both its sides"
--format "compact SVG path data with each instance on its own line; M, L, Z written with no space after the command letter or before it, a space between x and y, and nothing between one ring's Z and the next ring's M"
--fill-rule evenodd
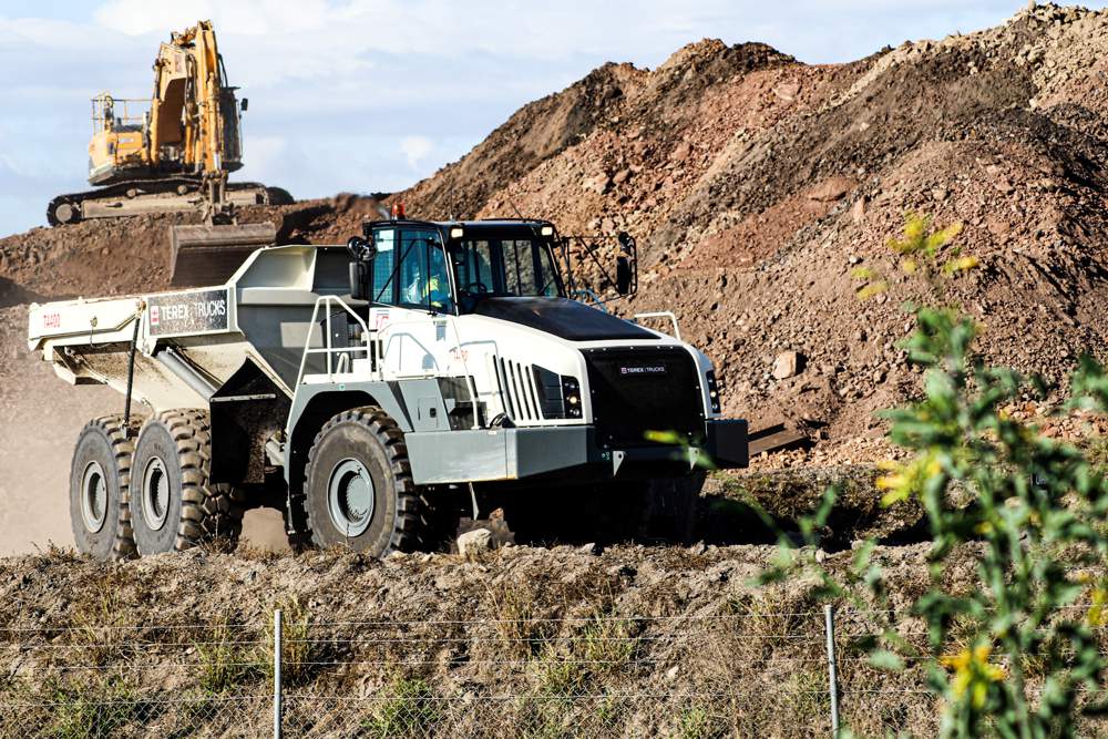
M618 310L674 310L716 362L729 414L818 428L815 450L786 463L879 459L890 450L873 412L917 387L896 348L911 329L900 305L917 295L894 279L862 302L851 271L895 273L886 242L907 212L964 225L957 245L981 266L952 299L982 324L991 361L1063 379L1080 353L1108 355L1106 51L1108 12L1057 6L847 64L701 41L524 106L394 199L418 217L519 212L563 233L636 234L642 288ZM336 243L376 206L340 195L243 218L276 220L284 243ZM62 485L69 440L119 404L27 356L23 306L164 287L167 226L181 220L0 239L3 494L25 480L17 438L52 440L41 453ZM776 379L784 351L801 353L800 371Z

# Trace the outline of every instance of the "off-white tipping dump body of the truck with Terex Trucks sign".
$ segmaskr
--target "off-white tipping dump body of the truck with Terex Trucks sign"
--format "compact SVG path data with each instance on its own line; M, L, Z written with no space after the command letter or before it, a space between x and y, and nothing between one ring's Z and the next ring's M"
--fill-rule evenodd
M194 382L157 360L167 348L187 357L213 388L249 360L291 397L318 297L311 281L317 252L328 249L260 249L227 283L207 288L33 305L29 347L72 383L104 382L124 392L138 321L133 393L153 411L207 404ZM330 252L342 258L342 249Z

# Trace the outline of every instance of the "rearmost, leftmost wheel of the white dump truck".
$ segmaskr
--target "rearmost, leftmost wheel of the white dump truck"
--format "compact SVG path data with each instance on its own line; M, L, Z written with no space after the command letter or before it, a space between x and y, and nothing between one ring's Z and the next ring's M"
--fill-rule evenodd
M127 505L133 452L121 415L94 419L78 437L70 468L70 521L78 551L96 560L135 556Z

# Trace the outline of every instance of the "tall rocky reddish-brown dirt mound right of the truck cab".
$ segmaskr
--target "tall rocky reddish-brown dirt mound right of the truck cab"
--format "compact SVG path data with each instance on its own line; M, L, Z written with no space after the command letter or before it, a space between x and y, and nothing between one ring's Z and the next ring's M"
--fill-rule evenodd
M982 268L952 297L984 325L983 349L1060 379L1108 348L1094 308L1108 264L1094 83L1106 28L1104 12L1044 6L853 64L667 63L481 215L513 205L568 230L644 235L644 287L625 310L675 310L721 367L729 412L840 440L876 432L872 411L917 387L896 349L911 328L899 305L917 296L899 283L860 304L851 270L895 271L885 242L905 212L962 222ZM653 83L674 78L689 94L668 106ZM798 376L773 377L783 351L806 360Z

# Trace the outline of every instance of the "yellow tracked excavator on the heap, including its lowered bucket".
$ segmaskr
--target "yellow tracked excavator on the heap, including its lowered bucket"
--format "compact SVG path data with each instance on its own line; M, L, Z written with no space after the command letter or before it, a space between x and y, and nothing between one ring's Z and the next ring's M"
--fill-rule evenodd
M248 101L227 84L211 21L171 33L154 61L151 100L92 100L89 184L59 195L47 208L51 226L144 213L195 212L197 226L171 233L173 284L225 277L257 246L271 244L273 224L237 225L236 206L285 205L284 189L228 183L243 166L242 113ZM216 279L219 281L219 279Z

